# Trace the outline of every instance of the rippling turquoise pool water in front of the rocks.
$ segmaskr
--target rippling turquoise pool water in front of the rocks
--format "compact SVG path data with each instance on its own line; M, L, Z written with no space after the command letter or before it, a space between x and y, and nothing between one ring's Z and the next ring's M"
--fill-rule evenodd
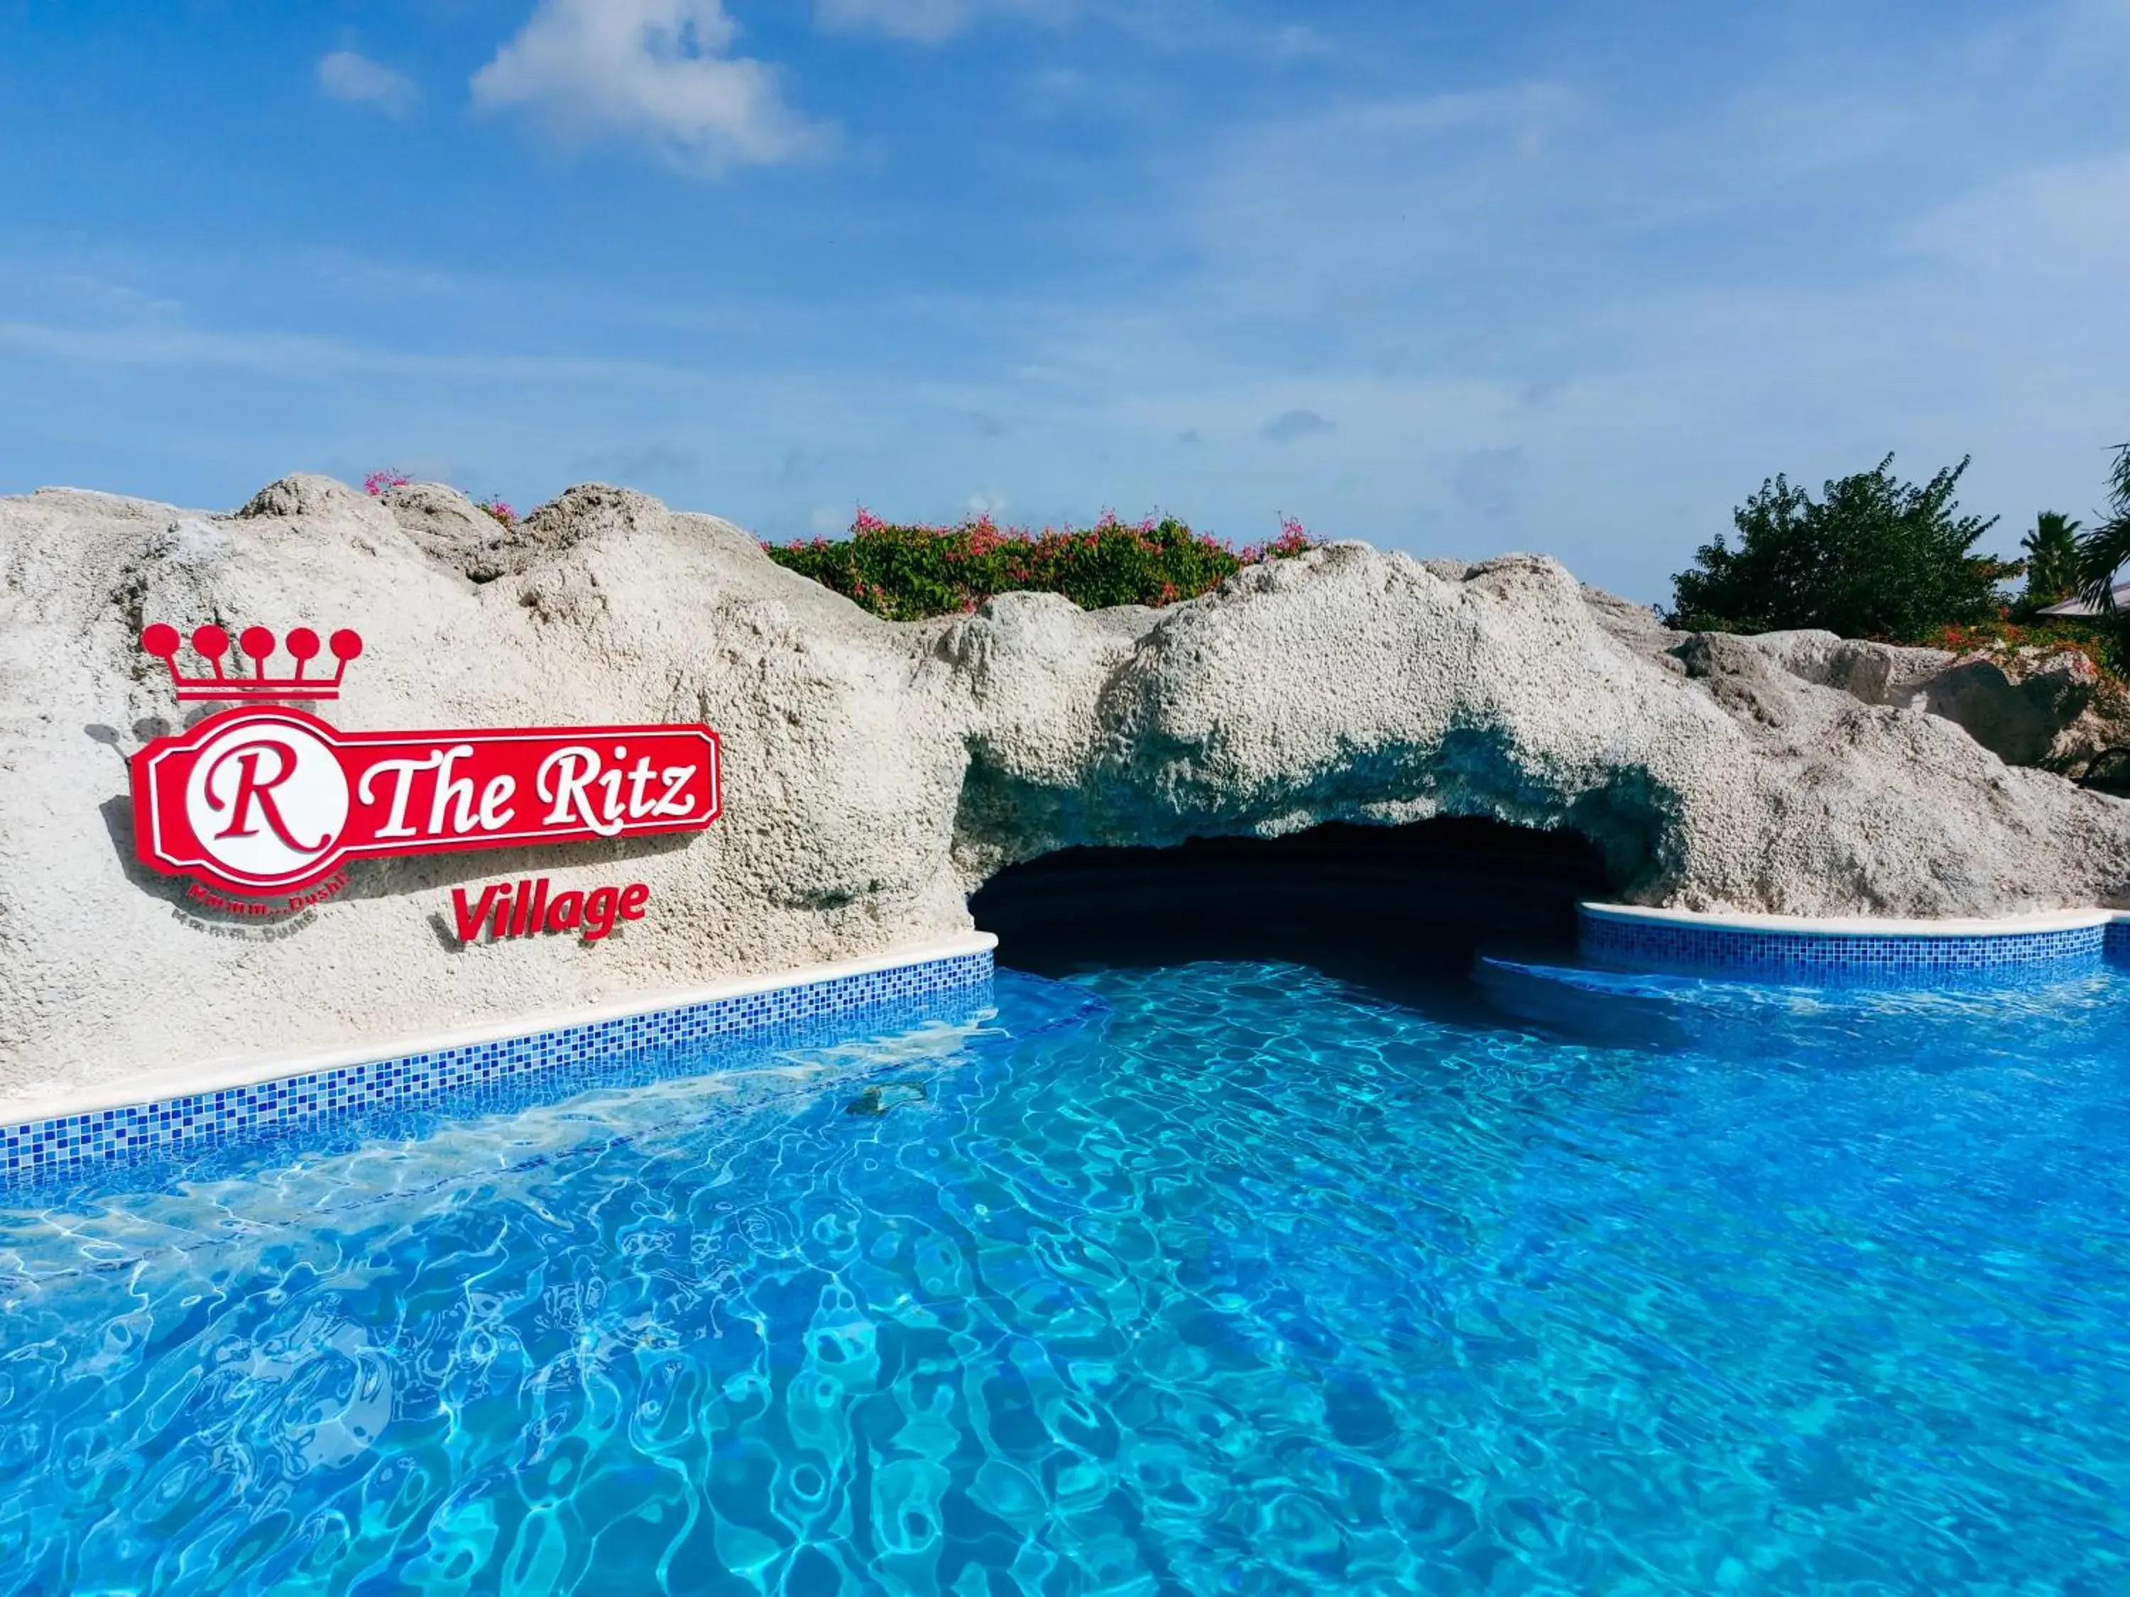
M15 1199L0 1593L2130 1591L2126 1018L1001 975Z

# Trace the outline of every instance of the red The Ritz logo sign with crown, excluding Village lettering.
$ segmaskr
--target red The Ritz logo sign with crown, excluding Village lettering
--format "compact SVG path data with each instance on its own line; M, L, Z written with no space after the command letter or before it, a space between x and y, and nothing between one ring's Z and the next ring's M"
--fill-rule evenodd
M317 654L311 632L290 635L296 675L281 679L264 677L273 635L262 626L241 639L251 677L222 677L219 628L194 635L215 677L179 677L175 639L151 626L143 645L168 660L179 696L339 694L339 671L302 677ZM334 632L332 652L345 671L362 641ZM158 737L132 758L132 790L143 865L249 894L309 886L351 858L701 830L722 807L707 726L343 732L285 705L245 705Z

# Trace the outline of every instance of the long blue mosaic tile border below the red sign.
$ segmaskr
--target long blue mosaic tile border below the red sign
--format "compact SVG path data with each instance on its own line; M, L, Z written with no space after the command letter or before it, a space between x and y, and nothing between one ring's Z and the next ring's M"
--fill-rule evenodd
M720 1043L826 1039L888 1016L907 1022L954 997L988 992L990 979L990 950L976 950L251 1086L4 1124L0 1188L320 1133L443 1099L452 1099L454 1107L486 1109L552 1101L618 1080L648 1080L675 1067L705 1069L705 1054Z

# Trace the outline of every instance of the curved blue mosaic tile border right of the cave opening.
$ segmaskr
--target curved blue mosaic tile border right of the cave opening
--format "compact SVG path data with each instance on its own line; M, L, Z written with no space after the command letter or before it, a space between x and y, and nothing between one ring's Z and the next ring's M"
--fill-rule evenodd
M2030 933L1885 935L1764 931L1578 916L1583 956L1638 971L1736 975L1810 986L2041 984L2092 975L2117 926ZM2124 939L2130 948L2130 939Z

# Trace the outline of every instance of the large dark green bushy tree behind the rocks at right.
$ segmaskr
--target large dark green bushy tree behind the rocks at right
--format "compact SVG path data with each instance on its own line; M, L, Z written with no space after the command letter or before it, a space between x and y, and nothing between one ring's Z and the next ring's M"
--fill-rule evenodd
M1928 483L1874 471L1838 477L1815 503L1772 477L1740 505L1738 547L1719 534L1672 577L1672 626L1698 632L1774 632L1819 626L1842 637L1911 643L1943 626L2000 613L1998 583L2015 562L1975 554L1996 517L1960 515L1962 460Z

